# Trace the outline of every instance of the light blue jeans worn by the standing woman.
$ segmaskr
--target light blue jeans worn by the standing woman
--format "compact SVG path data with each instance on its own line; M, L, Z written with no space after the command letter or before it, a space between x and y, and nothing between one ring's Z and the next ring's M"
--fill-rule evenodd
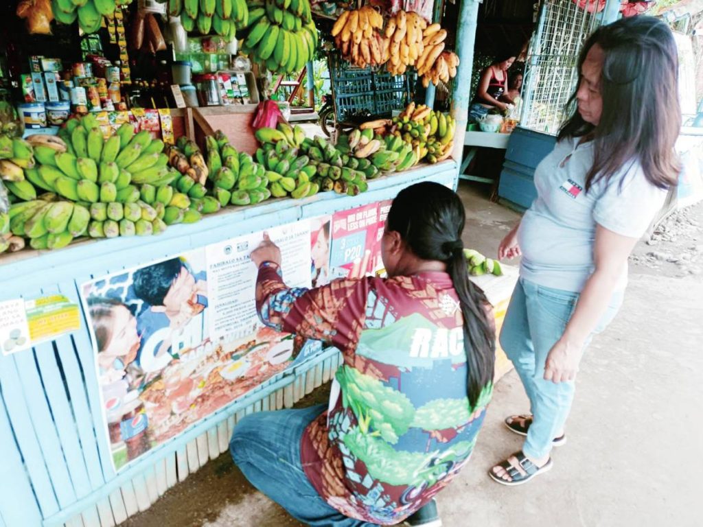
M544 457L552 441L562 430L574 401L574 382L554 383L544 379L547 355L562 337L574 314L579 293L543 287L520 278L512 292L501 330L501 347L515 365L527 392L532 424L522 452L527 457ZM616 292L605 315L588 337L588 346L596 333L605 330L617 314L623 292Z

